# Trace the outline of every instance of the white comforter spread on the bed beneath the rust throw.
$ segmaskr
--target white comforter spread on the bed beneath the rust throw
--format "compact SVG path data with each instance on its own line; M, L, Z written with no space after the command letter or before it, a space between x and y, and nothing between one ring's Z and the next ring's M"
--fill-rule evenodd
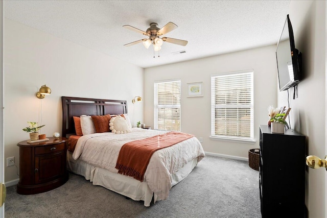
M116 161L125 143L164 133L166 131L132 128L132 132L127 134L106 132L85 135L79 138L73 158L118 173L118 169L115 168ZM172 187L171 175L188 161L196 157L200 161L204 156L201 143L196 137L160 149L150 159L144 182L160 199L166 200Z

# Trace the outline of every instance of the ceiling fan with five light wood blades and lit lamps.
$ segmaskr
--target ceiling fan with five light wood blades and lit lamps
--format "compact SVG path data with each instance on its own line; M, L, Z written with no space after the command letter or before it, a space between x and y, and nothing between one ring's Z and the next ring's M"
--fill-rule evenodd
M169 43L173 43L173 44L178 44L178 45L183 45L185 46L186 44L188 44L188 41L185 40L181 40L181 39L174 39L174 38L168 38L168 37L162 37L160 38L160 36L169 33L172 30L175 30L178 26L175 25L175 23L173 22L169 22L167 23L164 27L162 27L161 29L158 28L158 23L152 22L150 23L150 27L147 29L147 31L142 31L139 30L135 27L129 26L129 25L125 25L123 26L129 30L135 31L137 33L142 33L143 35L149 36L148 39L141 39L141 40L137 40L128 44L124 44L124 46L131 46L134 44L138 44L143 42L143 45L148 49L149 46L151 44L153 44L153 50L154 51L159 51L161 49L161 45L162 43L165 42L169 42Z

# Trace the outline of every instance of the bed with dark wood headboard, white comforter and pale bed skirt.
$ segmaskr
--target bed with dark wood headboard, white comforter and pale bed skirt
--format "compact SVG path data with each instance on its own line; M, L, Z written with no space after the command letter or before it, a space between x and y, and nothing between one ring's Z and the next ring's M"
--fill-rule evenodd
M69 143L73 140L76 142L75 149L67 151L68 171L84 176L94 185L101 185L135 201L142 200L147 207L150 206L152 199L154 203L166 200L170 188L186 178L205 156L196 137L180 133L188 137L167 148L155 150L142 179L121 173L121 169L115 167L121 159L119 153L127 142L171 137L167 135L179 133L130 128L126 134L115 134L118 132L114 132L113 129L108 132L76 136L74 119L85 118L83 115L102 118L110 116L111 121L115 118L123 119L130 125L126 101L62 96L62 135L69 138Z

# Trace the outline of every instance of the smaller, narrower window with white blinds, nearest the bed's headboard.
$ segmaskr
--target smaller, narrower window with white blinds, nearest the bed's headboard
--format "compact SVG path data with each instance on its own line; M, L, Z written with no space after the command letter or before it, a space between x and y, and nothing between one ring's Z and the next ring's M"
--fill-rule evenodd
M154 82L154 129L180 131L180 80Z

